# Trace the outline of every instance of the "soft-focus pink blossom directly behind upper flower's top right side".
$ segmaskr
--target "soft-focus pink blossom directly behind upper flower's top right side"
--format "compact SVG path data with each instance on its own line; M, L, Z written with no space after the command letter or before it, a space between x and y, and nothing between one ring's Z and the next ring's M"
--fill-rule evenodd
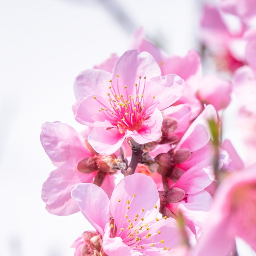
M217 111L229 105L231 83L215 76L202 76L200 55L195 50L190 50L185 56L167 56L144 38L142 28L135 31L130 47L138 49L139 52L146 51L152 54L162 75L177 74L184 79L184 93L175 104L187 103L191 107L191 120L200 114L204 103L213 105Z

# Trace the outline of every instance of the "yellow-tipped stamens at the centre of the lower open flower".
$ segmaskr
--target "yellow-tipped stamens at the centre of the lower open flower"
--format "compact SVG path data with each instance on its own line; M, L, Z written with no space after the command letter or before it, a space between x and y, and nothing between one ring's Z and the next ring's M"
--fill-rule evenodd
M135 251L144 249L146 251L158 251L159 247L163 250L170 250L170 247L167 247L164 242L164 237L161 233L161 228L154 231L152 227L156 225L159 221L158 218L155 218L155 221L150 221L150 223L146 223L144 218L146 218L151 212L145 211L144 208L134 214L130 214L130 207L132 204L132 200L134 200L135 194L132 195L130 200L126 202L121 202L121 199L118 199L118 202L126 206L126 212L124 215L124 219L126 220L123 224L123 227L120 227L118 223L115 222L114 219L111 219L111 231L110 237L121 237L123 243L132 247ZM155 205L155 208L157 206ZM133 216L134 215L134 216ZM166 220L167 217L165 216L164 219ZM152 232L152 233L151 233ZM150 237L155 237L154 241L152 239L148 239ZM150 240L150 241L149 241Z

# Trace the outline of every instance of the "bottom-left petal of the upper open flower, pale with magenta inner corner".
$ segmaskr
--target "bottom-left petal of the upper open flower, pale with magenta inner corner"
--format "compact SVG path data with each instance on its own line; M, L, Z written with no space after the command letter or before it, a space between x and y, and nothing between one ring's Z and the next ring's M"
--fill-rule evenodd
M101 155L111 155L122 146L128 134L128 132L121 134L115 127L111 129L94 127L88 137L88 142L97 153Z

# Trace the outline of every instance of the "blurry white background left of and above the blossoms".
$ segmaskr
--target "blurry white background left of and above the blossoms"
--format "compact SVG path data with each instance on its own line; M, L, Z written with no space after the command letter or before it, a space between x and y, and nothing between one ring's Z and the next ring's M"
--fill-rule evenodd
M128 49L135 29L168 54L200 50L200 0L0 2L0 255L71 256L92 229L81 213L48 213L41 188L54 166L41 125L73 117L76 75ZM209 1L207 1L209 2ZM249 254L245 254L249 255Z

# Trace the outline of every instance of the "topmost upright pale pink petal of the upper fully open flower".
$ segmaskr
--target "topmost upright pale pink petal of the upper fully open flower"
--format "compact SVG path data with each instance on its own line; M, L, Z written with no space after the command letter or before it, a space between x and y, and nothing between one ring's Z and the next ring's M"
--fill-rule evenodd
M144 83L144 76L148 81L159 75L161 75L161 70L152 55L148 52L138 53L137 50L129 50L118 59L113 69L112 85L118 95L130 94L135 97L134 84L139 84L139 76L141 76L141 83ZM127 89L124 89L124 85L127 85Z

